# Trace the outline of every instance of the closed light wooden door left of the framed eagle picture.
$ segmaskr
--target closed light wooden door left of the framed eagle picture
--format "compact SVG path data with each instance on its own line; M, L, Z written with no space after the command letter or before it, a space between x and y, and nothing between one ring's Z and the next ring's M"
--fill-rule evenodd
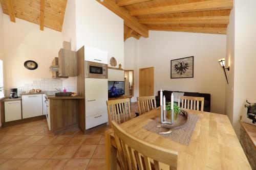
M139 96L154 95L154 67L140 68Z

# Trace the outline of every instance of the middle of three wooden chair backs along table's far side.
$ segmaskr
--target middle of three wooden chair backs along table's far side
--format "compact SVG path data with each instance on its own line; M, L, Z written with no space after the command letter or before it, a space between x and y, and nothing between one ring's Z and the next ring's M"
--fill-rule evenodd
M157 108L155 96L138 97L137 101L140 115Z

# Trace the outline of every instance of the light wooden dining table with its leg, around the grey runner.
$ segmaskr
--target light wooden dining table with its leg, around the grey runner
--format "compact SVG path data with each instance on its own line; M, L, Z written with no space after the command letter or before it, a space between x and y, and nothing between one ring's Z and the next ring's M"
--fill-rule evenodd
M127 133L145 142L178 152L177 169L251 169L227 115L184 109L198 114L188 145L170 140L143 128L160 116L160 107L119 124ZM113 129L105 131L106 169L117 169Z

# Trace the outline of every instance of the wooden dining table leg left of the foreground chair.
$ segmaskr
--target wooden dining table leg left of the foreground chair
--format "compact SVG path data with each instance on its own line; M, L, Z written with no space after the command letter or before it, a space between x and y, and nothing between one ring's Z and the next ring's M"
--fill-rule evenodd
M117 169L117 150L111 144L111 136L108 132L105 132L105 161L106 169L116 170Z

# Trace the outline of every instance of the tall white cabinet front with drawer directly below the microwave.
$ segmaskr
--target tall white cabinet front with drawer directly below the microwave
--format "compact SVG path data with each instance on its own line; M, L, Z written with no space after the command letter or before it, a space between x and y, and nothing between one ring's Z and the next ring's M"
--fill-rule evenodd
M108 114L104 116L98 115L103 113L105 114L108 112L106 108L106 101L108 101L108 79L86 78L85 92L86 92L86 129L88 129L88 127L92 128L108 122ZM96 117L96 118L93 118L93 117ZM90 122L90 120L92 119L94 119L95 121ZM89 123L90 126L89 125L87 126L87 123Z

